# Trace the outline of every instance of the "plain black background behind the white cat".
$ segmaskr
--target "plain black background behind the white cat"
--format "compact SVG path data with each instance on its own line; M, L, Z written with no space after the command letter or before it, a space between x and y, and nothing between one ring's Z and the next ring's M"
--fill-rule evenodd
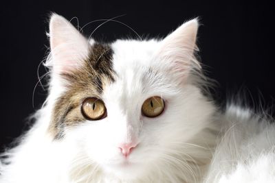
M27 117L38 110L47 92L38 86L37 68L45 58L47 19L57 12L89 21L118 18L138 34L165 36L184 21L199 16L198 45L208 76L219 82L214 99L225 103L232 93L246 88L248 103L272 106L274 86L274 6L267 3L210 3L209 1L17 1L1 2L1 118L0 147L23 132ZM76 19L72 20L77 25ZM100 23L87 25L89 36ZM124 35L124 36L123 36ZM109 22L98 28L97 40L136 37L124 25ZM39 75L43 75L43 66ZM45 81L43 81L45 84ZM254 99L254 101L252 100ZM261 101L261 102L260 102Z

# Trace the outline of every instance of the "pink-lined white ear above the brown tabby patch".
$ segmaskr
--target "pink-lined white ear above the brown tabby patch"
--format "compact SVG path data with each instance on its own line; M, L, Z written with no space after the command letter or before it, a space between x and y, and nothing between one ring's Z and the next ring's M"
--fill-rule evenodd
M66 74L78 69L89 54L89 41L63 16L50 18L50 48L52 70Z

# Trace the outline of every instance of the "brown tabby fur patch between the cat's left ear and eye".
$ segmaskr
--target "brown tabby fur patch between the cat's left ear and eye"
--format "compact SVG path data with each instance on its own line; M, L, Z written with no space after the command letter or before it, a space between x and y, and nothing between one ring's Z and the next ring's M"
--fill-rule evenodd
M100 98L104 86L114 82L112 55L113 51L109 45L96 43L91 47L89 57L84 60L81 69L61 75L69 84L54 106L49 128L54 138L62 138L65 127L83 123L83 100L87 97Z

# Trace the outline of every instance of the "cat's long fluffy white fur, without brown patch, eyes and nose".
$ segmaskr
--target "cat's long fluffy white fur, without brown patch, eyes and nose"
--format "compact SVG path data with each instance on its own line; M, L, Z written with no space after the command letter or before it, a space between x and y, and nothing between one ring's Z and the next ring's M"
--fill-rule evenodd
M55 15L54 18L59 20L58 23L67 25L62 17ZM186 32L186 27L191 32ZM71 32L68 35L72 38L70 34L76 31L71 25L69 29ZM270 119L239 106L229 105L225 112L220 112L212 99L203 95L208 93L208 80L193 54L196 34L197 21L190 21L170 34L172 36L165 39L164 45L162 40L113 42L113 68L119 77L115 77L115 82L104 92L109 100L117 100L113 103L120 103L126 108L111 108L114 112L112 114L110 111L110 117L113 117L114 124L102 120L103 127L98 128L101 131L95 130L98 126L89 121L68 127L65 129L67 136L62 141L54 140L48 130L56 100L67 88L64 81L54 71L51 72L50 94L43 108L34 116L36 123L21 138L17 147L1 155L0 182L275 182L274 125L270 124ZM186 36L190 38L186 39ZM85 42L80 34L76 39L80 39L80 43ZM182 50L179 50L180 45L177 44L181 44L181 39L186 41L187 46L181 45ZM177 44L173 45L175 42ZM93 45L94 40L90 44ZM70 42L70 45L74 44ZM155 49L161 51L152 56L150 53ZM190 62L184 62L186 60ZM52 69L54 62L54 55L51 55L46 65ZM74 64L74 60L70 63ZM70 65L59 66L58 72L61 72ZM162 72L150 71L150 67ZM175 73L173 68L178 72ZM134 113L140 111L135 109L133 103L148 97L138 95L138 90L149 97L155 93L166 97L170 101L166 110L168 114L158 121L139 121L130 114L127 117L131 120L125 120L128 110ZM125 96L130 97L124 99ZM122 109L117 110L120 107ZM122 110L124 114L120 114ZM109 147L109 141L123 133L121 121L126 121L126 127L140 133L144 147L138 147L133 152L131 161L142 162L142 167L114 170L105 164L106 158L110 162L120 160L120 154L104 149L96 141ZM138 123L136 126L133 125L135 121ZM111 127L104 126L104 123ZM141 127L145 130L139 131ZM102 135L105 130L109 133ZM118 134L115 134L116 131ZM149 141L151 139L154 142ZM94 157L91 158L91 154Z

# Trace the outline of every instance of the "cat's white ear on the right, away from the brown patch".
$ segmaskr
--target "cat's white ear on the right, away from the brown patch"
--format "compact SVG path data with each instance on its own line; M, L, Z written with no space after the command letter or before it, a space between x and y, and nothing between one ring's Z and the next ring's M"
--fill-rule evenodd
M184 80L192 68L200 68L199 62L194 56L197 49L198 27L198 20L192 19L179 26L160 42L157 57L166 71L177 79Z

